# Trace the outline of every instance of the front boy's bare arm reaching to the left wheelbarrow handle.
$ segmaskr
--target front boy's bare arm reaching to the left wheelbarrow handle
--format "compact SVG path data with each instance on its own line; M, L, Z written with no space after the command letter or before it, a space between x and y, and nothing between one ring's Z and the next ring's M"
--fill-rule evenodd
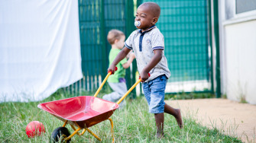
M115 66L118 65L118 62L120 62L122 59L124 59L128 53L131 51L131 49L128 49L126 46L118 53L118 56L115 57L114 61L108 68L108 72L111 71L114 75L115 73Z

